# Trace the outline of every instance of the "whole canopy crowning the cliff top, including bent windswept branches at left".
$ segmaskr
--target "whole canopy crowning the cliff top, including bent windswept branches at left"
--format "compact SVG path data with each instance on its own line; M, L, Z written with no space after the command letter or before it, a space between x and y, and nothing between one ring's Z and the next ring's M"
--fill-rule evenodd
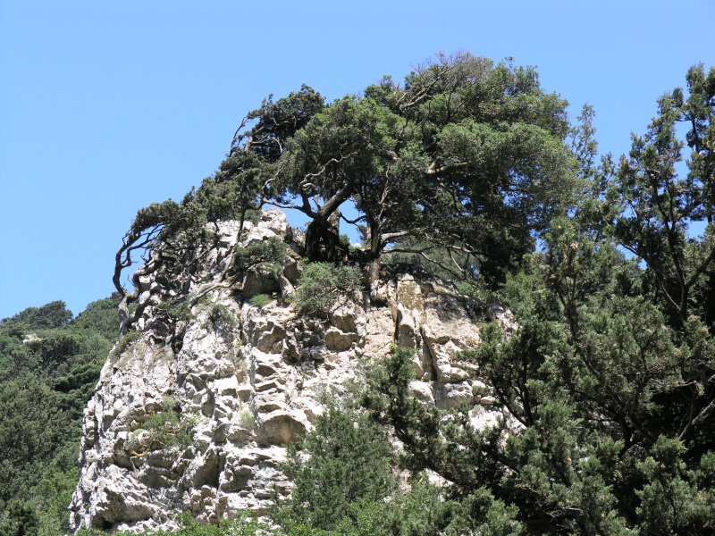
M307 86L269 96L240 122L212 177L181 203L139 211L114 285L125 303L136 300L144 273L132 291L121 281L136 255L162 241L181 256L206 238L207 222L243 222L263 205L307 215L309 261L369 264L374 281L385 255L408 253L498 284L574 200L566 106L534 69L466 53L329 104ZM357 215L346 217L346 207ZM359 227L363 247L341 243L341 220Z

